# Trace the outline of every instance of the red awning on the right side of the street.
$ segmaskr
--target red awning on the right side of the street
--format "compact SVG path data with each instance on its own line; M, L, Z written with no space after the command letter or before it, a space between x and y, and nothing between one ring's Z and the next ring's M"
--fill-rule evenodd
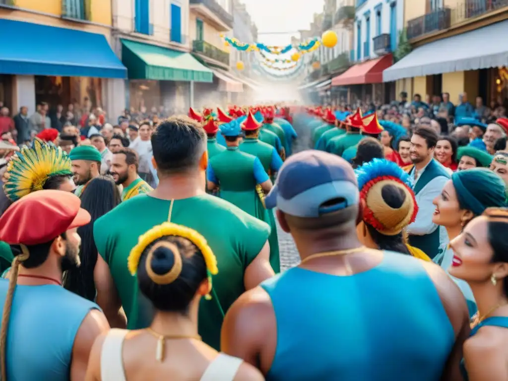
M392 55L371 59L358 63L341 75L332 79L332 86L363 85L366 83L382 83L383 70L392 65Z

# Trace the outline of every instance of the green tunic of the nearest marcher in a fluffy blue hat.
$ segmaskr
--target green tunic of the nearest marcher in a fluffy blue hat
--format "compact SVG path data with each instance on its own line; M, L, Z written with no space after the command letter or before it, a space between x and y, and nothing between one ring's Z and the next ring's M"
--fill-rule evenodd
M256 192L254 161L256 156L228 147L210 160L219 180L220 198L236 205L251 216L265 220L265 207Z

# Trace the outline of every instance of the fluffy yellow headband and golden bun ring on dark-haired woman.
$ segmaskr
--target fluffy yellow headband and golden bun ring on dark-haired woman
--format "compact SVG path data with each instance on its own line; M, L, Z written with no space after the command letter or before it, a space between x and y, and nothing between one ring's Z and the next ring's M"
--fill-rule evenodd
M206 264L206 272L208 274L208 282L210 284L210 289L208 294L205 296L206 299L211 299L210 291L212 289L212 275L216 275L218 273L217 268L217 259L213 255L212 249L208 246L206 239L199 234L197 231L187 228L182 225L177 225L169 222L165 222L161 225L154 226L152 229L147 231L145 234L139 237L138 244L134 246L131 250L128 259L128 268L131 272L131 275L136 275L139 266L139 260L143 251L156 239L165 237L165 236L177 236L188 239L190 242L194 243L196 247L201 251L203 258L205 259ZM173 251L175 256L175 264L171 268L171 270L164 275L158 275L153 272L150 267L151 256L155 248L165 246L168 247L171 251ZM158 284L169 284L174 281L181 272L182 268L182 259L180 255L180 251L177 246L171 242L157 242L156 245L150 250L148 253L148 258L146 259L146 270L150 278L158 283Z

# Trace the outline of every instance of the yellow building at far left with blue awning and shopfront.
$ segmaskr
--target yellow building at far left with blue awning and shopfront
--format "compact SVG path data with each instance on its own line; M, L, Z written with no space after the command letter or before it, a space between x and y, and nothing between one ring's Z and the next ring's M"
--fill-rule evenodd
M42 102L50 112L70 104L76 113L118 111L114 88L126 70L111 50L111 26L108 1L0 2L0 101L13 114Z

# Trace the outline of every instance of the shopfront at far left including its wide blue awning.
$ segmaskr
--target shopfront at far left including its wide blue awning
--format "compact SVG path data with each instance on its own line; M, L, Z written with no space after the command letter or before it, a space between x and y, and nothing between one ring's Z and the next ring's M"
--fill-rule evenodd
M116 110L112 89L126 69L104 35L0 19L0 38L0 94L12 109L33 113L47 102Z

